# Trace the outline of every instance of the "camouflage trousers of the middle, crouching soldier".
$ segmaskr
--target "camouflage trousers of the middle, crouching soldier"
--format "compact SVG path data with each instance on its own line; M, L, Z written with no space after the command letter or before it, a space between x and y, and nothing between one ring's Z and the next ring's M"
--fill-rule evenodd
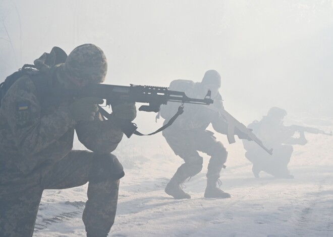
M163 130L162 134L175 154L185 161L185 164L177 171L177 174L184 175L183 179L192 177L201 171L203 158L198 151L211 156L207 178L217 179L219 177L219 173L227 161L228 152L223 144L216 140L213 132L204 129L180 132L170 127Z

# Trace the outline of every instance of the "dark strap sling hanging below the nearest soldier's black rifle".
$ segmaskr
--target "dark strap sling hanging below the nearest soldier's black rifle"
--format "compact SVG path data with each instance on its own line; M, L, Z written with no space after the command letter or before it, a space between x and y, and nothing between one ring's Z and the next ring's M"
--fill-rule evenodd
M100 107L99 105L97 105L97 106L98 106L98 111L99 111L99 113L100 113L103 117L108 118L108 117L110 116L110 114L109 114L107 111L105 111L102 107ZM137 130L136 130L136 129L137 129L136 124L135 124L135 123L132 123L132 122L127 123L127 125L132 126L132 129L131 129L130 132L127 132L127 131L125 131L125 129L123 129L123 127L124 127L124 126L123 126L124 123L122 123L120 127L122 128L123 132L125 133L125 135L126 135L128 138L130 138L130 136L131 136L132 134L135 134L135 135L137 135L137 136L150 136L150 135L156 134L156 133L158 133L158 132L160 132L160 131L163 131L165 128L171 126L171 125L175 122L175 120L178 118L178 116L181 115L183 112L184 112L184 106L183 106L183 105L180 105L180 106L178 107L178 111L177 111L177 113L176 113L176 114L175 114L175 115L169 120L169 122L168 122L167 124L161 126L161 127L158 128L156 131L154 131L154 132L152 132L152 133L149 133L149 134L142 134L141 132L137 131Z

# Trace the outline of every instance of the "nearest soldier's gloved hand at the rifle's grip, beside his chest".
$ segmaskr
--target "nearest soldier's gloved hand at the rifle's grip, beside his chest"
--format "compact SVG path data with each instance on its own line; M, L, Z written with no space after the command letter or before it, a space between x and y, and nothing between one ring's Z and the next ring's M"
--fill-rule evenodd
M96 97L85 97L75 100L68 106L75 121L93 121L98 111L97 104L103 104L103 100Z

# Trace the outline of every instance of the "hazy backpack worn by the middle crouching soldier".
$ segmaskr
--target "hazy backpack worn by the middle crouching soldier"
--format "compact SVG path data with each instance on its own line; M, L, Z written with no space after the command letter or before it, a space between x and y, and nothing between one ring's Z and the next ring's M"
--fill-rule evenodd
M170 83L170 91L181 91L186 92L188 89L193 88L195 85L194 82L190 80L175 80ZM180 103L169 102L167 105L161 105L160 116L167 120L170 119L178 111Z

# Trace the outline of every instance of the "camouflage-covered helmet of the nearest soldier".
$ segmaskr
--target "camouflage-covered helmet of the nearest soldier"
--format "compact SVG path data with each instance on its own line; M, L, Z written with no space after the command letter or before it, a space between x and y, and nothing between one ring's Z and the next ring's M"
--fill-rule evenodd
M94 44L77 46L68 55L64 72L79 81L102 83L105 81L107 61L104 52Z

